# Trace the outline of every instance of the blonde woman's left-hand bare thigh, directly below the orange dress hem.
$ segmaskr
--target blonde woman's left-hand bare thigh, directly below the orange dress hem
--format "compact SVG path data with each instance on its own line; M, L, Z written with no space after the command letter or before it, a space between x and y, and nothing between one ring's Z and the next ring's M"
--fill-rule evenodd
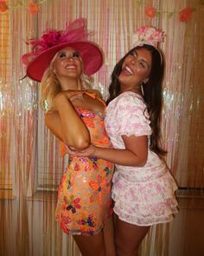
M104 234L99 232L93 236L73 235L82 256L105 256Z

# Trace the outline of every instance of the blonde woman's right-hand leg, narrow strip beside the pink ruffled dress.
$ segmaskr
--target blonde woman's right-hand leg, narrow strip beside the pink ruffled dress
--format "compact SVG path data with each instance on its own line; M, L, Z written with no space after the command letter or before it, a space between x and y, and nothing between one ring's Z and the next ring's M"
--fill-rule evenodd
M105 256L116 256L114 226L112 217L105 221L104 226Z

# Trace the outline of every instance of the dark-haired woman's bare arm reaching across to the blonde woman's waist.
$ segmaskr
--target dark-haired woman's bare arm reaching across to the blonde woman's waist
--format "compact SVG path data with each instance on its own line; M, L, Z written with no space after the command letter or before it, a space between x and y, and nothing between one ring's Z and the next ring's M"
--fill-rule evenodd
M90 146L81 152L75 154L82 156L94 155L106 161L111 161L118 165L143 167L148 156L148 138L146 135L130 137L123 135L125 149L99 148ZM72 151L70 154L74 154Z

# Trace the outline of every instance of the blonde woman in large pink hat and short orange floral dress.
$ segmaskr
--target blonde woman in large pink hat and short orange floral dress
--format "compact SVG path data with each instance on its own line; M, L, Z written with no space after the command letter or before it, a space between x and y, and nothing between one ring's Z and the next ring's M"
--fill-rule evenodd
M86 37L85 20L78 19L65 32L51 30L42 35L33 43L38 51L22 57L24 62L34 57L27 75L41 82L41 107L48 110L46 125L62 141L62 154L68 147L81 150L91 143L111 146L104 125L105 103L88 89L90 75L101 67L103 55ZM73 234L84 256L115 255L112 174L109 161L74 155L61 178L56 218L63 232Z

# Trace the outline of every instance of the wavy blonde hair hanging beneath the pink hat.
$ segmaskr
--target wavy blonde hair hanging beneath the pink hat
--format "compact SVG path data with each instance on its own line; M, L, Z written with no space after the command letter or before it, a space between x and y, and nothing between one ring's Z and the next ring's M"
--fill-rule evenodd
M40 106L45 111L54 111L55 102L54 97L61 92L61 84L54 74L54 60L57 54L54 56L48 69L45 70L41 78L41 100ZM82 61L82 60L81 60ZM83 66L83 62L82 62ZM83 68L83 67L82 67ZM80 82L82 89L92 89L93 79L84 73L80 75Z

